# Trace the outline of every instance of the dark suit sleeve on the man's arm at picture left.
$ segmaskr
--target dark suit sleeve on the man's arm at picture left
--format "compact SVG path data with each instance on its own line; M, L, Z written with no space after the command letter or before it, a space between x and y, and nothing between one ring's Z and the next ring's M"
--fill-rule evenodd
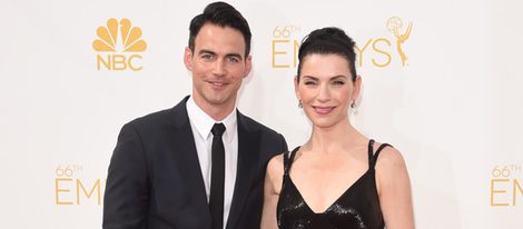
M130 122L121 128L109 165L102 228L147 228L149 191L144 143Z

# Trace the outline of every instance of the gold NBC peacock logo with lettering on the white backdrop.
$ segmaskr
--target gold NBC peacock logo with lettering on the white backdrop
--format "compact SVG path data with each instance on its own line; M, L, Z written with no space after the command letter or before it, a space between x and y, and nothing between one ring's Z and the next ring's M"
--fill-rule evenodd
M129 19L120 21L111 18L107 20L107 27L99 27L97 30L98 39L92 41L92 48L98 51L97 69L126 70L132 71L142 69L138 66L137 59L141 56L136 52L144 52L147 43L141 39L141 29L131 27Z

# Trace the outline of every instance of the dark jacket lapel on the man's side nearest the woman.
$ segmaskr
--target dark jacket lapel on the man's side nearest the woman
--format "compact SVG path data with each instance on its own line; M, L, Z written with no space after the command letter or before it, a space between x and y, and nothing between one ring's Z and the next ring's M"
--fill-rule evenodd
M238 111L238 169L227 228L235 228L258 170L259 131L249 129L244 119L244 116Z

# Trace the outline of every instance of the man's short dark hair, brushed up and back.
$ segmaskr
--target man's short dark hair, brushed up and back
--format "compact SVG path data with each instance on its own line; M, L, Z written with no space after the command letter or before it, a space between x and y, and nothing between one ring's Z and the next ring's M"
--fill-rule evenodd
M247 20L233 6L217 1L208 4L204 12L193 18L189 26L189 49L195 51L195 39L205 23L230 27L244 34L245 57L250 52L250 28Z

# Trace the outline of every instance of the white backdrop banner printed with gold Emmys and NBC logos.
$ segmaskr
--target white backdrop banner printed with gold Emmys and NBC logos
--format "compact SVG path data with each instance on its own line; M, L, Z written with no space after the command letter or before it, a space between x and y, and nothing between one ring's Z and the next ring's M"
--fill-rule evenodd
M0 2L2 228L100 228L121 126L190 93L182 57L209 1ZM309 136L293 78L312 30L356 40L354 125L406 160L417 228L523 228L523 3L230 1L253 30L238 108Z

